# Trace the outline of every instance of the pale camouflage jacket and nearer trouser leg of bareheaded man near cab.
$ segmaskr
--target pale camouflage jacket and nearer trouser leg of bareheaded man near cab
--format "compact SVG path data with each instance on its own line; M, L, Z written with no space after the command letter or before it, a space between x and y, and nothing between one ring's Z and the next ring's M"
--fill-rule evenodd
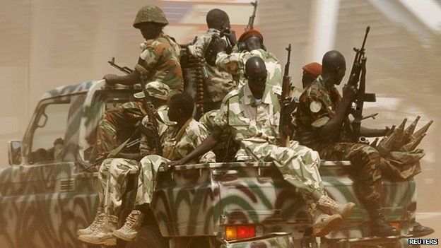
M184 158L185 155L191 153L207 137L208 132L204 125L196 122L193 118L189 119L180 130L177 130L176 126L168 126L165 133L161 136L163 157L148 155L141 160L135 205L151 203L159 167L166 165L170 161ZM197 162L192 161L192 163ZM216 162L216 156L213 152L209 151L199 158L199 162Z

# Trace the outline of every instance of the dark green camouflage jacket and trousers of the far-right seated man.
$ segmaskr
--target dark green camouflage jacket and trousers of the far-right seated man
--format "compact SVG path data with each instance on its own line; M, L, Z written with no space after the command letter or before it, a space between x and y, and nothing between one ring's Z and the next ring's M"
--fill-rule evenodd
M332 141L324 142L317 130L327 124L336 114L341 101L339 91L333 86L326 88L322 76L307 88L300 97L296 113L298 132L296 139L304 146L319 151L326 160L350 160L357 167L357 175L365 200L379 201L381 195L380 153L372 146L361 143L338 142L346 140L345 130L337 132ZM348 122L346 119L345 122Z

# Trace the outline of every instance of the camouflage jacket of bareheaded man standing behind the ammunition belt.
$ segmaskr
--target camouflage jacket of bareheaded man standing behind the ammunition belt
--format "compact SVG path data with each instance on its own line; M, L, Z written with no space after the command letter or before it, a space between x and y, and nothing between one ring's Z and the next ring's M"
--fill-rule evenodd
M195 57L205 59L205 52L213 35L220 35L219 30L210 28L206 33L197 37L194 45L189 45L189 53ZM207 76L204 80L204 102L223 100L225 95L236 87L233 76L228 72L220 71L216 66L210 66L206 62L204 62L204 67Z

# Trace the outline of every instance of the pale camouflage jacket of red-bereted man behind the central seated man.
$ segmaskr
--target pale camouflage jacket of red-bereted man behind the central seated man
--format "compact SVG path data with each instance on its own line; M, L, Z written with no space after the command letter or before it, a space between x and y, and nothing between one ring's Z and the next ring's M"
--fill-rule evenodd
M249 58L254 56L261 57L261 59L265 61L266 71L268 71L266 84L270 86L267 87L266 90L272 90L272 92L280 95L282 68L276 55L271 52L266 52L264 49L256 49L251 52L245 50L232 54L220 52L216 59L216 66L223 71L231 73L235 81L237 81L237 88L242 88L242 86L247 83L247 78L245 78L245 63L247 63Z

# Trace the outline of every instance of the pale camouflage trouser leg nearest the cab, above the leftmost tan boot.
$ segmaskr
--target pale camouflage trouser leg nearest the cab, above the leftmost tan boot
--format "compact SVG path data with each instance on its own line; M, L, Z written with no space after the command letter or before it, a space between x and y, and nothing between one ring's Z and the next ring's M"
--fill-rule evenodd
M127 188L127 176L138 170L139 162L124 158L107 158L102 161L98 174L100 206L106 213L116 215L122 203L122 194Z

